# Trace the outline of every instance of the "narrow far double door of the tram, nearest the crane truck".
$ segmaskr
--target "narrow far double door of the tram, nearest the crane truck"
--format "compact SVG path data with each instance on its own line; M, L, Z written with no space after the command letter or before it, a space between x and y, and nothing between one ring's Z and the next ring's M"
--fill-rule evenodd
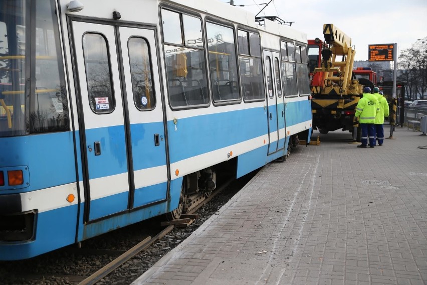
M267 120L269 129L268 154L284 148L285 111L283 105L282 83L280 76L279 53L264 50L267 82Z

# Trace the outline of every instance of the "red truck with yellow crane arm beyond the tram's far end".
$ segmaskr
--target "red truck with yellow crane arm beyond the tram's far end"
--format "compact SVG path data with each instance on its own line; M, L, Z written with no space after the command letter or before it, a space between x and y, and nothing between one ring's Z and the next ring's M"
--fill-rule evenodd
M357 102L364 86L372 88L374 83L357 79L358 71L353 70L356 51L350 37L333 24L323 25L323 36L324 41L308 40L313 129L323 134L340 128L353 133L358 126L354 120ZM353 138L359 141L357 133Z

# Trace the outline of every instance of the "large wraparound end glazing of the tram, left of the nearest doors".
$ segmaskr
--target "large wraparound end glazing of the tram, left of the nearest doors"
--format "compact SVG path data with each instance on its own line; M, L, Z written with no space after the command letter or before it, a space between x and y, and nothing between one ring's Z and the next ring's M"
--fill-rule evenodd
M0 136L69 130L55 3L4 0L0 7Z

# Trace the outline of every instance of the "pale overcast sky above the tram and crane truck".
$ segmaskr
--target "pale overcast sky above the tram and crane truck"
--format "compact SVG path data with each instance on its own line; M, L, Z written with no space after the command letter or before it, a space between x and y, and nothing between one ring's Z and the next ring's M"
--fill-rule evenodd
M265 7L259 4L269 2L234 0L254 14ZM292 28L305 32L307 39L323 40L323 24L334 24L351 38L355 60L368 60L368 45L374 44L396 43L397 55L412 44L427 50L427 0L273 0L260 16L294 22ZM425 39L424 44L418 39Z

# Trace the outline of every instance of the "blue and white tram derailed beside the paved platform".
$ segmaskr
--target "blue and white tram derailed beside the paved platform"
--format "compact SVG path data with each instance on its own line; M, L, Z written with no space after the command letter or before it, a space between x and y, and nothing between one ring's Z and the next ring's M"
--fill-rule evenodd
M309 141L306 35L211 0L0 0L0 260L169 213Z

